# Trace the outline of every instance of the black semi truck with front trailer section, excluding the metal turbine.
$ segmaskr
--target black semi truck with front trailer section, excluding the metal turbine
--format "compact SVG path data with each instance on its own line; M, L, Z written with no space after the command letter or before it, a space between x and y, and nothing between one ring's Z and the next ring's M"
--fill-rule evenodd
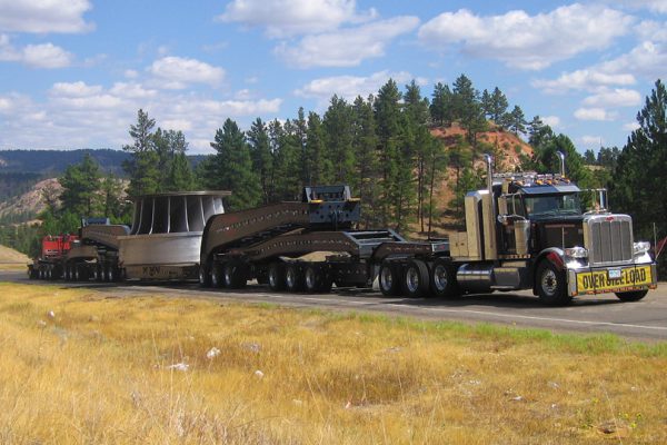
M560 161L559 174L495 174L486 156L487 187L465 197L466 229L436 240L354 230L359 201L345 186L307 187L301 202L217 215L203 233L200 283L238 288L257 279L272 290L328 291L377 278L386 296L529 289L547 305L603 293L644 298L657 283L650 245L634 240L628 215L607 210L606 190L588 190L597 195L585 210L585 190Z

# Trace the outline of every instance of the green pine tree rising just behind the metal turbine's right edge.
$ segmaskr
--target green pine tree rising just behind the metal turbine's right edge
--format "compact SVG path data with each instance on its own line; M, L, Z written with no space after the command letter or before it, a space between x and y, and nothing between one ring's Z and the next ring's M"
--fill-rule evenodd
M261 201L258 176L252 171L250 149L246 135L238 125L227 119L216 131L211 147L215 156L215 171L207 178L207 185L219 190L231 190L227 200L230 210L242 210L257 206Z

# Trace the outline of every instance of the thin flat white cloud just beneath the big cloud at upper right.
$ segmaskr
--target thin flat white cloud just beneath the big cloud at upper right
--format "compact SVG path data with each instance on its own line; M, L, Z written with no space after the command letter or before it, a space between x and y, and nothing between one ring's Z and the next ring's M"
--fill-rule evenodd
M557 93L567 90L587 90L601 86L629 86L636 82L630 73L607 73L595 67L560 75L555 80L535 80L532 87L545 92Z

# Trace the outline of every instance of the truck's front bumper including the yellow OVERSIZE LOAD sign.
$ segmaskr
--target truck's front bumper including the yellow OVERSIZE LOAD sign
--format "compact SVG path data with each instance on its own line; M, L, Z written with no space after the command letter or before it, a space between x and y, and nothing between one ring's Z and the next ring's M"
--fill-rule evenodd
M625 293L657 287L655 263L567 269L567 289L573 297Z

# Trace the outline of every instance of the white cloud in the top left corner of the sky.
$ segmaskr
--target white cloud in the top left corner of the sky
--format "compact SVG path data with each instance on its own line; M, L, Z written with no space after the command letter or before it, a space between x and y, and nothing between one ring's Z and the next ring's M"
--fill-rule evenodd
M89 9L88 0L0 0L0 31L86 32L93 28L83 20Z

